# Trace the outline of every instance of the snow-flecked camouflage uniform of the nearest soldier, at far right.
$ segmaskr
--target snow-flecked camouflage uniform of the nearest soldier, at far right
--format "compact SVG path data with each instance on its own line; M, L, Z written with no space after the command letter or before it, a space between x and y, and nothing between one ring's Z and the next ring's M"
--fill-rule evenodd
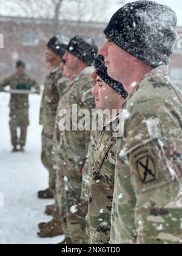
M150 71L124 105L110 243L182 243L182 95L167 74Z

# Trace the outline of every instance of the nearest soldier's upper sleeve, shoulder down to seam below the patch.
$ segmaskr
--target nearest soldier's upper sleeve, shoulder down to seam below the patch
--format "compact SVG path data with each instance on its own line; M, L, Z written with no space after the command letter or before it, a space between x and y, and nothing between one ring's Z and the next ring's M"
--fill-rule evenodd
M135 113L127 123L120 155L129 158L136 193L182 176L182 119L178 109L170 107L156 104L156 109Z

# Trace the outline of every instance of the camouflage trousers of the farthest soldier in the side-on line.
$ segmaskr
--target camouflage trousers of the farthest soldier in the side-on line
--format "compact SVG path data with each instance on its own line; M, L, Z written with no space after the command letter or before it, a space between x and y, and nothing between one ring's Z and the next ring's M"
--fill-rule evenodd
M53 135L46 129L42 130L41 160L44 167L49 171L49 188L55 196L56 160L53 151Z

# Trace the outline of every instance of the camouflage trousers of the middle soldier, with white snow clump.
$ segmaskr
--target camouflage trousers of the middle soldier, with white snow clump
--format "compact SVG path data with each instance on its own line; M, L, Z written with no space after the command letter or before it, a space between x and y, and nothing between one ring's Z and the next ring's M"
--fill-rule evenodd
M62 196L65 196L67 229L73 243L88 243L85 221L88 202L81 199L82 166L69 159L65 159L64 163L61 164L65 183L65 193Z

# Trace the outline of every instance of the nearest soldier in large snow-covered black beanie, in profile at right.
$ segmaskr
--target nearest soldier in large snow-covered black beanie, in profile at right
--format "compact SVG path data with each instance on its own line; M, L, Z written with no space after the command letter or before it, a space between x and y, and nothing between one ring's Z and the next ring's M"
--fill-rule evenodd
M104 30L107 73L129 93L110 243L181 243L182 95L169 79L177 16L166 5L124 5Z

